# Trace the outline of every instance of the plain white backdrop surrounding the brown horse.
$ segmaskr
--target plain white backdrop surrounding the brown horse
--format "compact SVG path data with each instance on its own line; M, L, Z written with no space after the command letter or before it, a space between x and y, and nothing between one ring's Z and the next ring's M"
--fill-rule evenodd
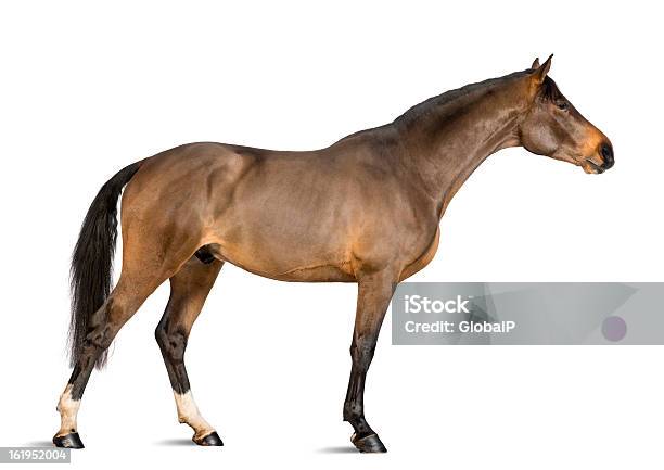
M0 445L46 445L59 427L68 262L92 198L179 143L325 147L554 52L550 75L611 138L615 167L491 156L411 280L664 280L663 38L650 2L92 3L0 8ZM177 423L153 338L163 285L90 380L74 465L661 468L661 347L398 347L390 316L366 396L390 452L346 452L355 293L225 266L187 353L226 443L200 448Z

